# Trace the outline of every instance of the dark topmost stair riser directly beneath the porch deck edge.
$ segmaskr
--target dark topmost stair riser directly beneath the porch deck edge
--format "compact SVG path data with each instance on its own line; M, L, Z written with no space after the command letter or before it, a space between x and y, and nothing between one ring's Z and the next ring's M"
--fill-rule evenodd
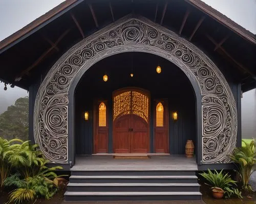
M136 175L166 175L166 176L175 176L175 175L184 175L184 176L193 176L196 175L195 171L79 171L71 170L71 175L74 176L111 176L111 175L122 175L122 176L136 176Z

